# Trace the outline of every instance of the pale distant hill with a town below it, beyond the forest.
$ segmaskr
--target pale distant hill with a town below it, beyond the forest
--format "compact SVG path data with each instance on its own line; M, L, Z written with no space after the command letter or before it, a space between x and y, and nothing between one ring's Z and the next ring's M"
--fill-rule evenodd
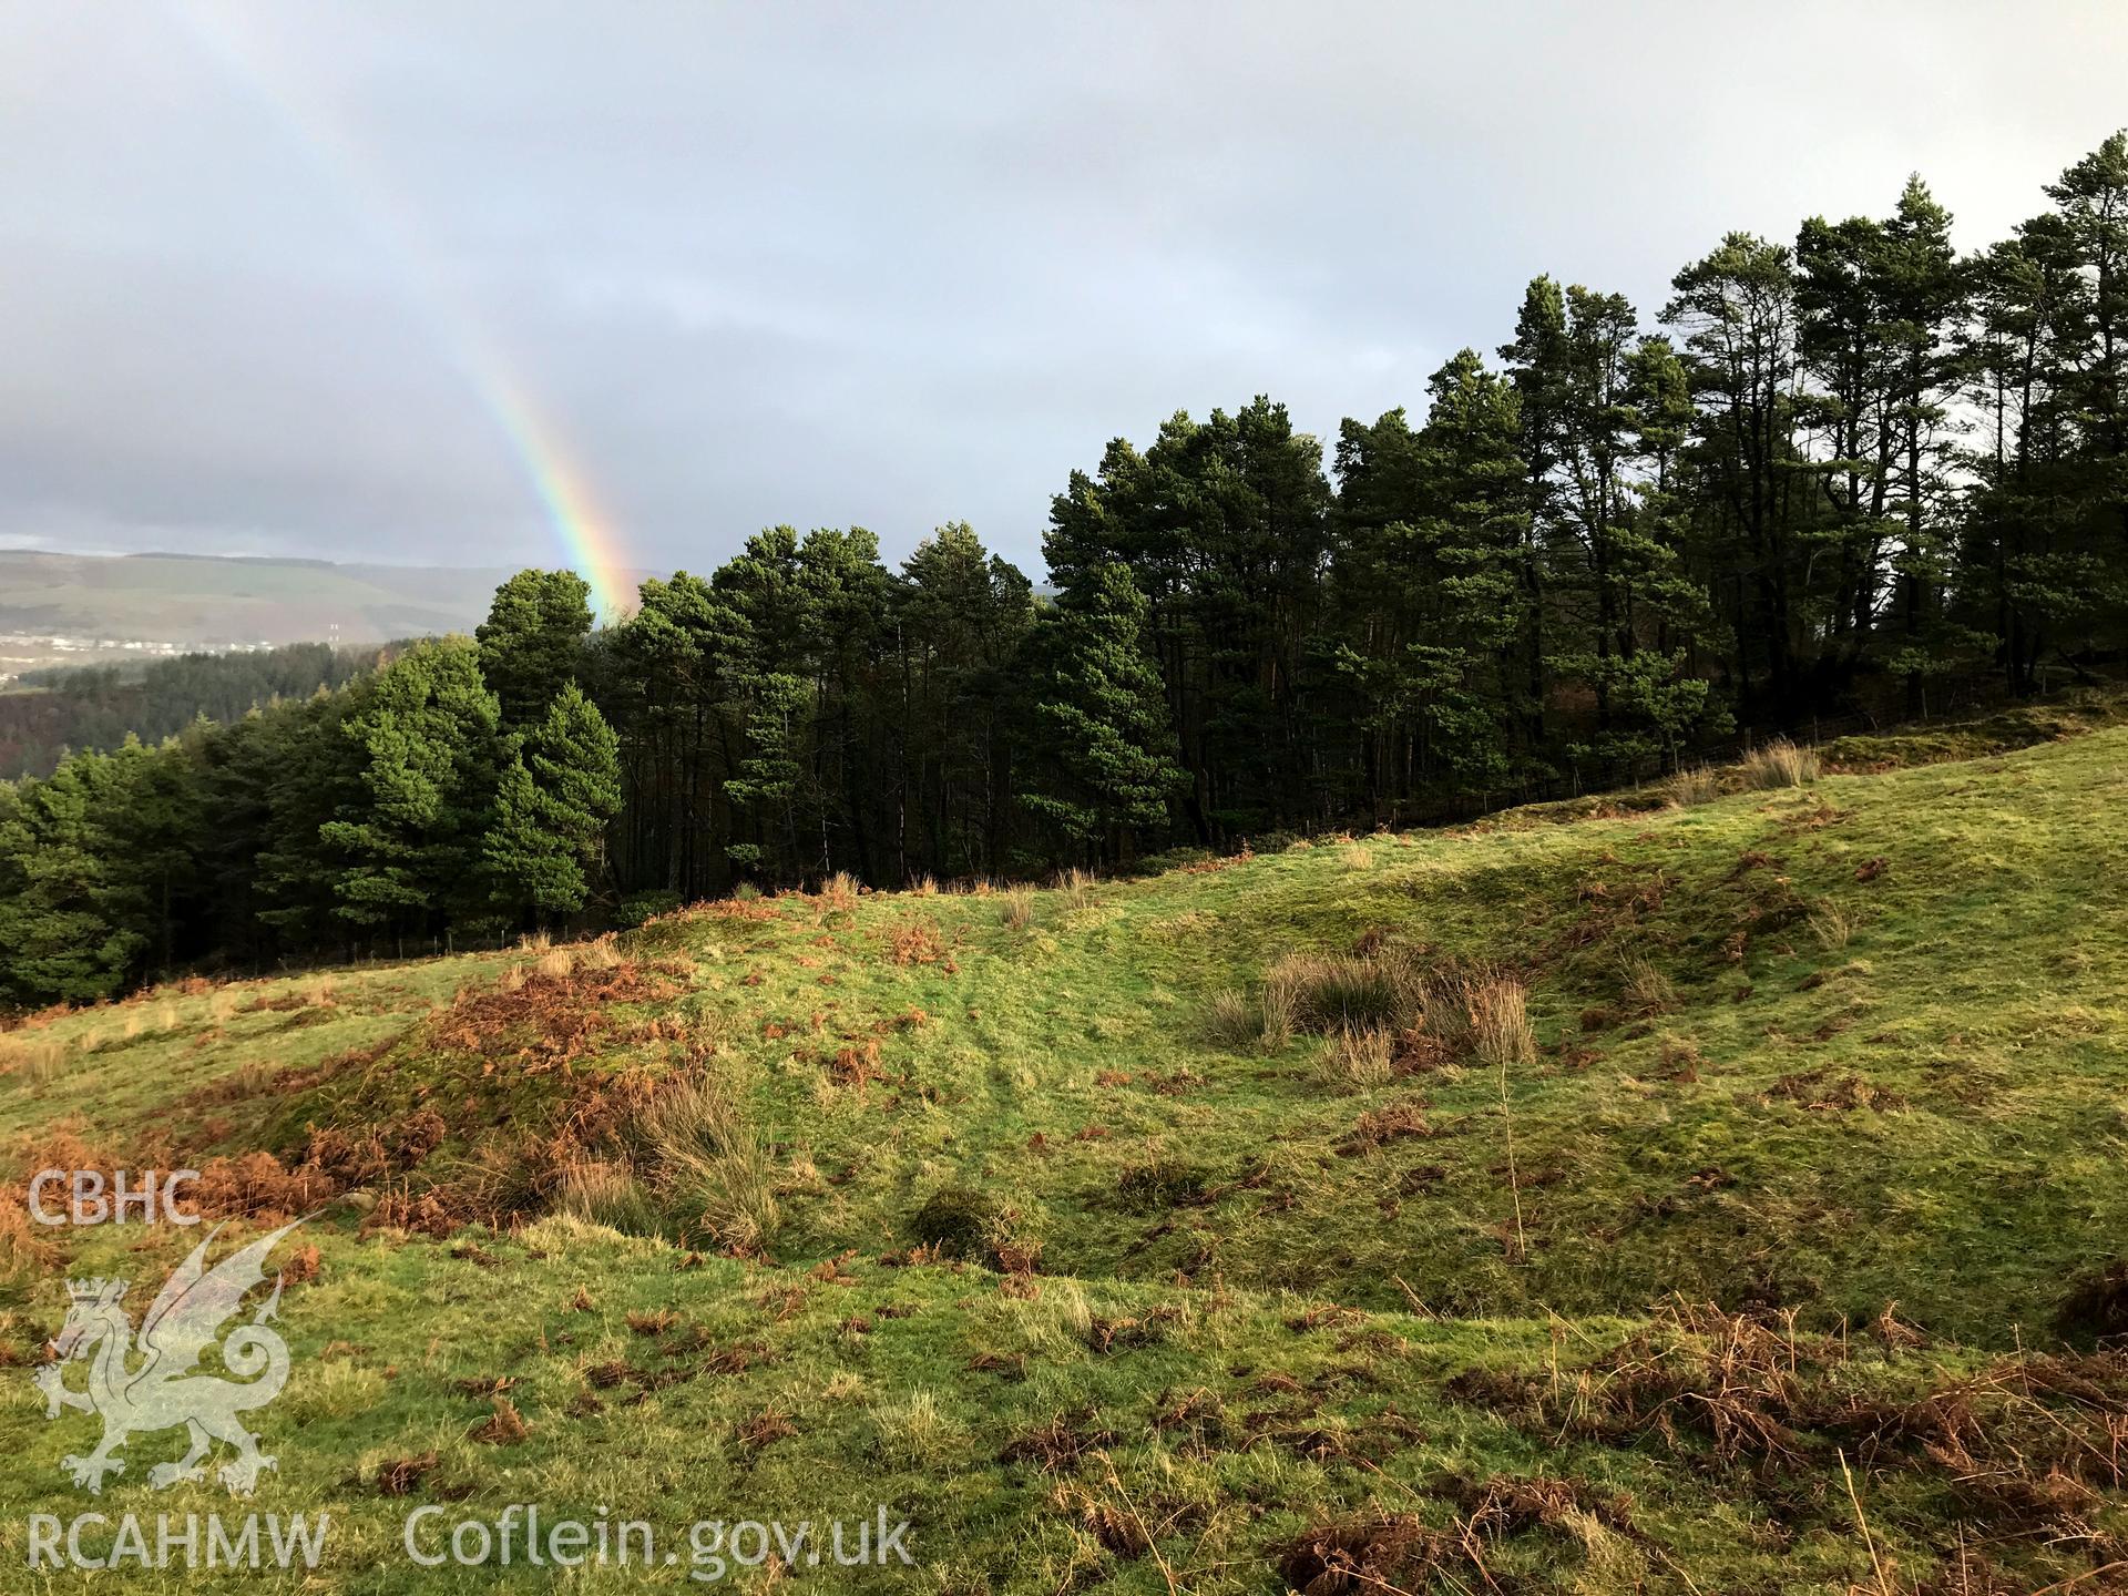
M0 549L0 634L192 649L470 630L504 568Z

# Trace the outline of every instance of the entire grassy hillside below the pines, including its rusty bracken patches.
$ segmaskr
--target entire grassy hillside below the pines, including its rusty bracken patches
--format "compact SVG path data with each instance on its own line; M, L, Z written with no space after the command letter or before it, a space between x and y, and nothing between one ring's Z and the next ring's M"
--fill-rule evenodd
M68 1275L138 1319L204 1232L0 1213L0 1562L32 1513L323 1511L309 1575L128 1587L681 1590L694 1519L885 1509L915 1566L721 1583L2113 1587L2128 730L1705 785L19 1026L13 1194L317 1217L232 1507L149 1485L174 1430L89 1498L32 1385ZM511 1502L677 1560L404 1556Z

